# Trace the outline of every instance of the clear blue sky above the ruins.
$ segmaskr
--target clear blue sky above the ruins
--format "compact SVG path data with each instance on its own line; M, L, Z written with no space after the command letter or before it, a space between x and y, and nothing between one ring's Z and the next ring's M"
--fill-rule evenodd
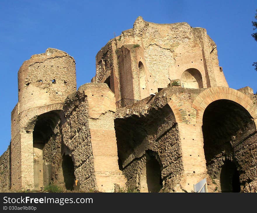
M231 88L257 91L257 42L251 34L256 0L76 1L1 0L1 144L11 140L11 111L18 102L17 74L31 55L48 47L74 57L77 87L95 75L95 55L107 41L131 29L136 18L155 23L187 22L206 28L216 42L220 66Z

